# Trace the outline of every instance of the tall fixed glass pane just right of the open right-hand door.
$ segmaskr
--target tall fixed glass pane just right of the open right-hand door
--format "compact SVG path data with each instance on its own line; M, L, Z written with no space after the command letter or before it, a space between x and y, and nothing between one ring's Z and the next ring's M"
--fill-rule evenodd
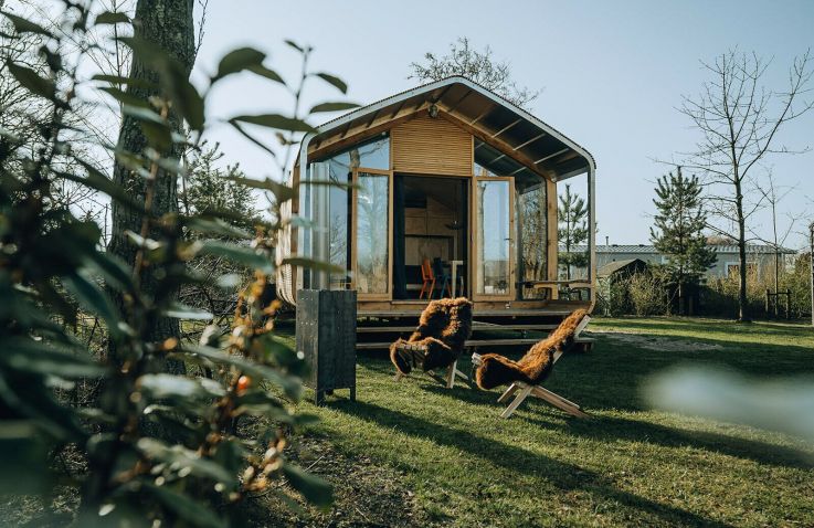
M548 278L545 183L518 194L517 226L520 240L520 281L524 283L522 298L540 297L545 294L545 289L526 287L525 284Z

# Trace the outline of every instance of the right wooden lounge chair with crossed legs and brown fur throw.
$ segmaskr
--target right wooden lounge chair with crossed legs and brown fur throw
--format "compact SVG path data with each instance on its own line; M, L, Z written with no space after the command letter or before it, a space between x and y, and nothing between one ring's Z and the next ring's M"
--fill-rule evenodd
M542 383L563 351L580 340L580 332L588 326L591 317L584 309L569 315L549 337L532 346L518 361L512 361L498 353L474 353L472 361L476 366L475 381L480 389L489 390L503 384L509 388L498 398L498 403L515 399L500 414L509 418L511 413L529 395L545 400L551 405L578 418L589 418L580 406L559 394L542 387Z

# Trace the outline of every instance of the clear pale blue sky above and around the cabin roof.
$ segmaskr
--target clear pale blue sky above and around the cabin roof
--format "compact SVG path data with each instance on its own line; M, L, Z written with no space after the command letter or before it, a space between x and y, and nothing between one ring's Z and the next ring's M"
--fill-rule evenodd
M239 45L269 54L268 64L296 76L298 57L283 44L293 39L315 47L311 67L338 74L348 98L367 104L416 83L412 61L444 53L466 35L489 45L511 64L518 84L541 89L532 113L588 148L598 162L598 242L647 243L655 179L667 169L653 159L691 150L698 134L676 107L709 75L700 60L738 47L773 59L764 80L785 86L795 55L814 49L814 1L518 1L210 2L197 68L211 72ZM814 87L814 86L812 86ZM268 83L240 75L213 94L212 117L287 109L290 102ZM341 94L314 83L306 105ZM814 96L810 94L810 96ZM329 116L326 116L326 119ZM278 176L267 155L225 127L220 141L231 162L252 177ZM814 147L814 112L790 124L780 140ZM677 158L676 158L677 159ZM781 186L796 186L782 212L797 218L795 231L814 220L814 152L768 160ZM785 225L786 219L781 219ZM765 214L754 230L768 236ZM726 225L721 225L727 228ZM786 245L804 244L792 235Z

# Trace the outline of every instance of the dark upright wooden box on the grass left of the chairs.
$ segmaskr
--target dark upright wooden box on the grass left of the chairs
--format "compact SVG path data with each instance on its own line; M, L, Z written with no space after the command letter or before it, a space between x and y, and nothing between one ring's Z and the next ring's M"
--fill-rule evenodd
M335 389L350 389L356 400L356 291L297 292L297 350L310 372L317 405Z

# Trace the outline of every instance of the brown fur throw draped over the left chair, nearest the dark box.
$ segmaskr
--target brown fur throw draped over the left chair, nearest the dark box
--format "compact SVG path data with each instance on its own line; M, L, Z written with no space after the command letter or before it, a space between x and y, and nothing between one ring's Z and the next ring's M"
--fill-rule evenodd
M409 374L413 367L425 372L448 367L464 351L471 335L472 303L466 297L433 300L421 314L412 336L390 346L390 360L403 374ZM405 342L417 345L422 352L405 352Z

